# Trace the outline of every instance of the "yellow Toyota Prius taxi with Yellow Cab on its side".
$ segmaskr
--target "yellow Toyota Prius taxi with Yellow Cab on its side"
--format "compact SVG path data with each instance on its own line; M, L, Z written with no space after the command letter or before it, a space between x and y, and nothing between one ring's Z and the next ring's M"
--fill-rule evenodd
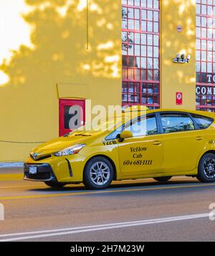
M214 113L195 110L137 111L130 118L125 110L113 129L77 129L34 148L24 163L24 180L54 188L83 183L89 189L182 175L214 182L214 118Z

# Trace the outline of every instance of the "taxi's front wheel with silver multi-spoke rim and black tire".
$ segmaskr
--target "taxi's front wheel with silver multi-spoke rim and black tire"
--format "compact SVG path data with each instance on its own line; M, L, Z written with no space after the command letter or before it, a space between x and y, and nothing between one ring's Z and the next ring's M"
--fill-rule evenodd
M107 189L113 181L113 165L107 158L97 156L87 162L83 183L88 189Z

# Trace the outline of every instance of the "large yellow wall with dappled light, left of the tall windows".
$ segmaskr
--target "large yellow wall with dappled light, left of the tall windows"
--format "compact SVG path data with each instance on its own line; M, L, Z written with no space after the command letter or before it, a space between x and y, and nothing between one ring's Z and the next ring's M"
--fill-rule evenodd
M24 161L59 135L59 98L121 103L121 0L90 0L88 12L87 1L46 2L27 1L34 49L20 47L0 67L9 76L0 86L0 161Z

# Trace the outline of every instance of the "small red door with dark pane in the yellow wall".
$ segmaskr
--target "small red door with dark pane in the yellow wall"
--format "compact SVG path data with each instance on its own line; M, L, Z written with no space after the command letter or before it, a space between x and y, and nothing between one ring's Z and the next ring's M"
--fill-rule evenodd
M85 124L85 100L59 100L59 136Z

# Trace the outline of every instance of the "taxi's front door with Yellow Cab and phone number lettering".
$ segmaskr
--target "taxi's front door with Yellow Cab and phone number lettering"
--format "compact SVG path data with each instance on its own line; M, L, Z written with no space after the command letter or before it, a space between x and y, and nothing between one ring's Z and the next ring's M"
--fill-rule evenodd
M132 138L118 141L120 172L124 176L157 174L162 172L163 142L158 134L156 115L147 115L127 123L125 131Z

